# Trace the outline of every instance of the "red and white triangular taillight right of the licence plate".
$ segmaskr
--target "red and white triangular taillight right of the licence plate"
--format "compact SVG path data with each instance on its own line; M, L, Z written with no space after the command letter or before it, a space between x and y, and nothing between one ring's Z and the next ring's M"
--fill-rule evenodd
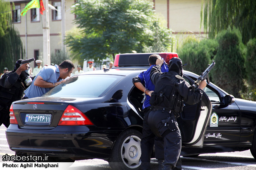
M64 110L58 125L79 126L93 125L93 123L83 114L83 112L74 106L68 105Z

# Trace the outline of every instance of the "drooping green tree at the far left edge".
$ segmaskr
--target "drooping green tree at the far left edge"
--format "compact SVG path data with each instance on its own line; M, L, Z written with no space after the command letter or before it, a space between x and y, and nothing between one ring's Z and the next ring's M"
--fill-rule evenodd
M23 46L19 32L14 29L11 20L9 2L0 0L0 69L14 68L14 63L23 58Z

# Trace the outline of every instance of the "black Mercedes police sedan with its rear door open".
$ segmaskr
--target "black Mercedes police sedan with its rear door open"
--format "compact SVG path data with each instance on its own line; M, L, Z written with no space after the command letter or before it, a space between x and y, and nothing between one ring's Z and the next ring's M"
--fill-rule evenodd
M147 68L121 62L118 54L118 67L73 76L42 97L13 102L6 130L10 149L46 154L48 162L100 158L113 169L139 169L144 96L131 80ZM191 85L197 77L183 71ZM250 149L256 158L256 102L209 83L199 104L184 103L178 123L182 156Z

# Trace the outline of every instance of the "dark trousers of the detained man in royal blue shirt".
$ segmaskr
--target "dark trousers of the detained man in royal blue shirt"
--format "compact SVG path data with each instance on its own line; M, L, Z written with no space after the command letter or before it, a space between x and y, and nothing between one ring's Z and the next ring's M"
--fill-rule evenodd
M150 107L145 108L144 119L143 119L143 130L142 130L142 139L140 141L141 148L141 169L150 170L150 158L153 152L153 146L155 144L155 157L157 159L164 159L163 151L163 140L161 138L156 138L154 133L148 125L148 116L150 112Z

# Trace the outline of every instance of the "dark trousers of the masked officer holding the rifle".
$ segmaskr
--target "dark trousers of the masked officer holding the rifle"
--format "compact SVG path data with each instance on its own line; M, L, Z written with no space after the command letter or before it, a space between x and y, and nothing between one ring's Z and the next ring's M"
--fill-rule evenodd
M168 117L174 117L174 115L162 110L151 111L148 117L148 125L152 132L163 139L164 144L164 170L182 169L180 160L180 151L182 148L182 138L180 129L176 128L175 131L171 131L167 124L164 124L163 120ZM176 119L174 119L176 125ZM171 123L169 123L171 124Z

